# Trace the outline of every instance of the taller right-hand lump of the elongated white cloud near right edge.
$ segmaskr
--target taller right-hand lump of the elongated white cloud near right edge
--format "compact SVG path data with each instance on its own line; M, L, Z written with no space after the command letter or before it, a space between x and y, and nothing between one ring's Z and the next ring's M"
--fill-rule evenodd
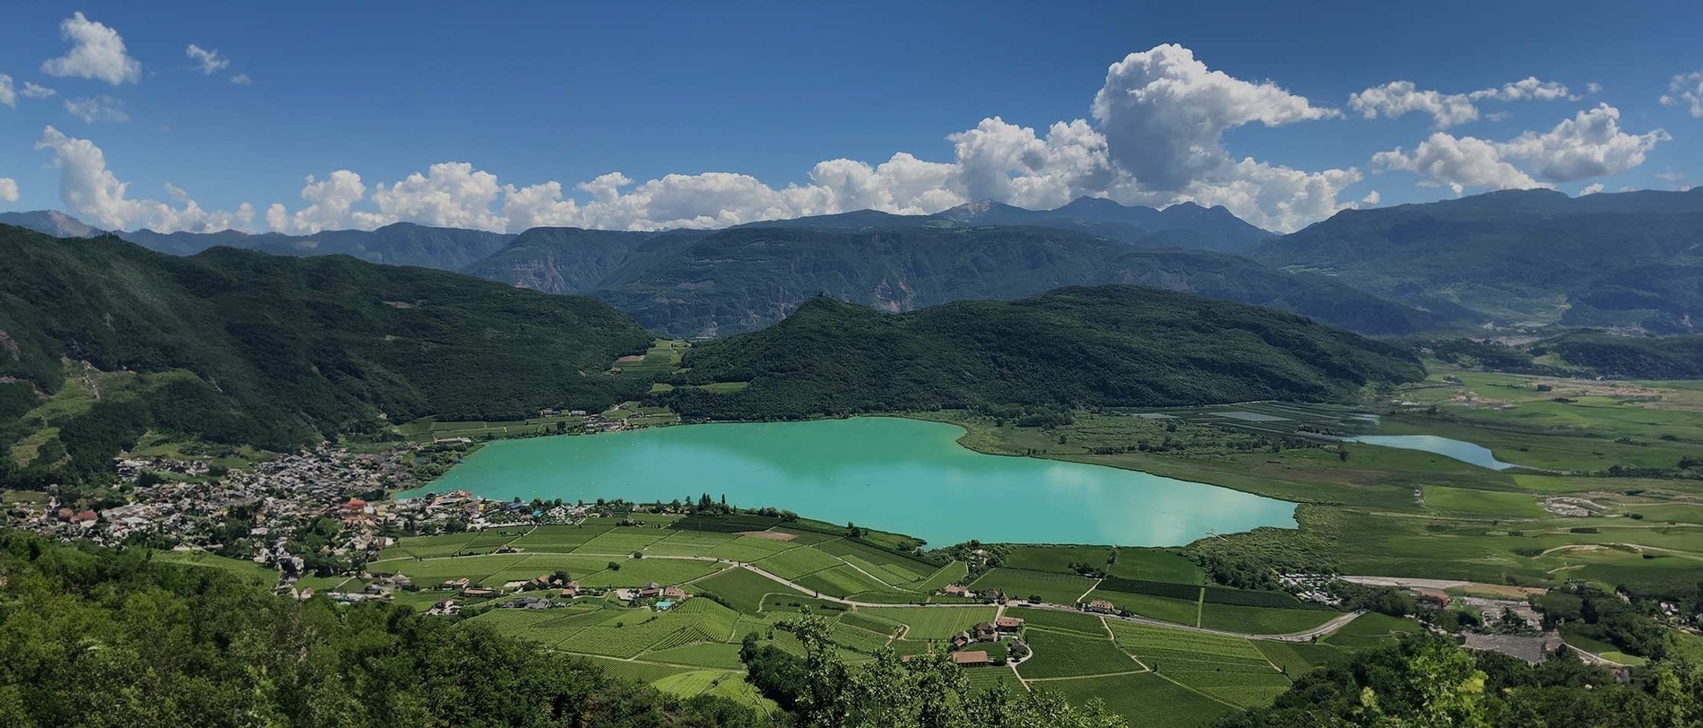
M1572 182L1633 169L1643 164L1657 142L1667 140L1672 136L1664 130L1643 135L1621 131L1620 109L1597 104L1550 131L1526 131L1499 148L1505 157L1529 162L1540 179Z

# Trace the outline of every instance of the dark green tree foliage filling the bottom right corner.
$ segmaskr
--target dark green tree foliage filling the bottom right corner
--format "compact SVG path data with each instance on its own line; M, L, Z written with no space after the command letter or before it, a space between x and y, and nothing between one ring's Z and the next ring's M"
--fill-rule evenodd
M1608 726L1703 725L1703 667L1664 663L1620 685L1572 653L1528 665L1468 653L1434 636L1332 662L1294 682L1270 708L1219 728Z

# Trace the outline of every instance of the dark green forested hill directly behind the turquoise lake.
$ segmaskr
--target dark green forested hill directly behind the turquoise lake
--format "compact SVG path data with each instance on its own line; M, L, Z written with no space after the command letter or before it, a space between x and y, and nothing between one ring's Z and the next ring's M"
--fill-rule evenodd
M725 419L1339 401L1424 375L1393 346L1294 314L1122 285L911 314L817 297L770 329L693 348L685 367L669 404ZM688 387L708 382L749 385Z

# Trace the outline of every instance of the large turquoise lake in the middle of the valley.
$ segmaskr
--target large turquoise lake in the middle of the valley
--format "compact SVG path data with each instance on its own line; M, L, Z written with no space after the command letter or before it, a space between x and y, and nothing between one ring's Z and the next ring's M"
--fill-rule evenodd
M1182 546L1294 527L1294 503L1112 467L983 455L955 425L901 418L683 425L501 440L417 493L594 501L727 496L949 546Z

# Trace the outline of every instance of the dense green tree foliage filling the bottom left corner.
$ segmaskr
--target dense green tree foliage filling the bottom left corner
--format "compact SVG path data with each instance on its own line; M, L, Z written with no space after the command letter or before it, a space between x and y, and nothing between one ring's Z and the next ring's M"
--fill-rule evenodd
M0 532L0 725L758 726L405 607Z

